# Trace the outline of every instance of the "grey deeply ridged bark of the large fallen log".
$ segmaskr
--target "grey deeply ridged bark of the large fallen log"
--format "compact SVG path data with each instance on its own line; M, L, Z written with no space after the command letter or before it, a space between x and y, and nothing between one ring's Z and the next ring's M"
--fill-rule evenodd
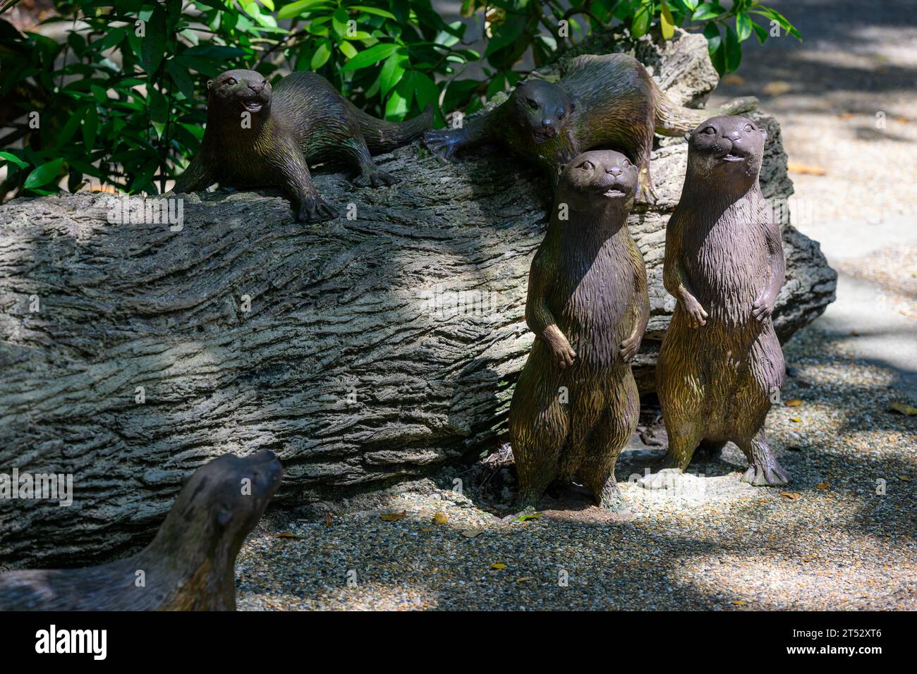
M636 54L681 104L716 82L700 36ZM768 129L762 191L785 198L779 126L754 117ZM635 362L645 392L674 306L663 243L687 156L679 138L662 145L659 203L629 221L651 303ZM70 507L0 500L0 563L133 547L225 452L274 450L275 502L303 503L494 445L532 342L523 312L547 182L487 150L444 165L414 146L377 161L401 182L316 176L356 219L315 226L255 193L188 195L180 232L109 224L97 194L0 206L0 473L70 472L74 484ZM786 339L834 299L835 274L817 243L790 226L783 239L774 324Z

